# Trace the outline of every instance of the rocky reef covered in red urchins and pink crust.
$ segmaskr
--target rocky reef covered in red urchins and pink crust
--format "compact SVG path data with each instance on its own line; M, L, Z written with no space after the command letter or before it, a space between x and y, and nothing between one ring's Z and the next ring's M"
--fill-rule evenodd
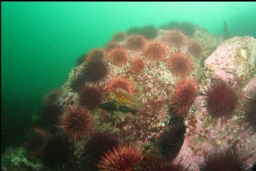
M72 154L48 170L203 170L223 148L245 155L235 158L241 170L255 164L256 134L243 122L256 89L255 38L223 41L192 23L182 28L192 31L118 32L79 59L51 102L62 114L49 119L58 128L51 141L65 137Z

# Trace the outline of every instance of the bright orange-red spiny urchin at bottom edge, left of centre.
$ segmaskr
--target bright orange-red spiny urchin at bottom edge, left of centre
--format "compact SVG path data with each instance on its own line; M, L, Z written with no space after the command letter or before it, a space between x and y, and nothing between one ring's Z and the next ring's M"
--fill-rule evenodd
M138 146L130 144L118 146L102 156L98 163L101 170L128 171L134 164L142 161L142 151Z

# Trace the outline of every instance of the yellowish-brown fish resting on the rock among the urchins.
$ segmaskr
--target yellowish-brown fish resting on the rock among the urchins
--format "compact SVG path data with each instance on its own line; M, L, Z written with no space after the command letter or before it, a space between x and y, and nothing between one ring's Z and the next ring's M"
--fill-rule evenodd
M113 91L110 91L110 93L108 93L108 98L120 104L132 105L136 108L140 107L138 97L136 95L128 94L124 89L114 89Z

